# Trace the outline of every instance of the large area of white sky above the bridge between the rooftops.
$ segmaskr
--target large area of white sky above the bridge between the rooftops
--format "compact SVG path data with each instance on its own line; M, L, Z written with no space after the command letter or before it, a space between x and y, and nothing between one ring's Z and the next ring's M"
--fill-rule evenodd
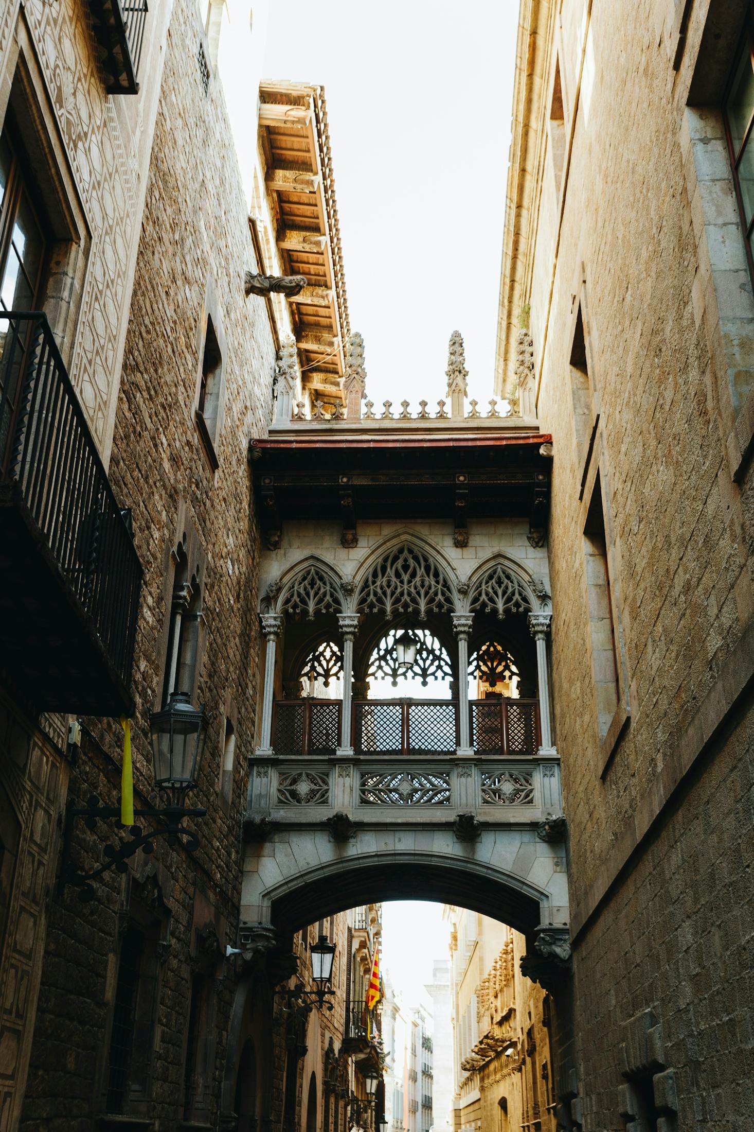
M492 396L519 0L271 0L263 75L324 86L367 396Z

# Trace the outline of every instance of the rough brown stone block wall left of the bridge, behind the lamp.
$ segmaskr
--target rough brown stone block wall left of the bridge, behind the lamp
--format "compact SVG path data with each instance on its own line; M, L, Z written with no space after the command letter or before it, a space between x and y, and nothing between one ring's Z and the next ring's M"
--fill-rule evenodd
M201 35L197 6L181 0L167 37L110 474L118 499L131 508L145 569L132 685L137 808L153 792L149 714L159 707L164 675L171 549L188 531L203 554L197 702L206 705L210 724L190 803L208 813L196 822L201 844L193 856L163 839L151 857L133 858L125 876L109 873L95 882L90 903L81 904L70 887L52 898L20 1123L25 1132L42 1126L72 1132L103 1117L118 955L129 894L141 890L150 893L162 928L154 1055L139 1115L154 1122L145 1126L166 1132L182 1124L190 979L201 971L210 983L214 1018L201 1118L215 1127L219 1118L234 995L224 950L236 942L258 661L258 539L246 451L269 420L275 348L263 300L246 300L243 293L244 271L254 263L248 201L220 85L214 76L207 89L202 82ZM224 332L225 409L216 472L194 422L202 319L210 303ZM226 717L235 727L229 800L220 791ZM80 804L96 794L113 804L120 791L121 729L116 721L85 722L69 797ZM96 866L112 835L112 825L99 824L94 833L78 830L77 863ZM97 1126L110 1124L104 1120Z

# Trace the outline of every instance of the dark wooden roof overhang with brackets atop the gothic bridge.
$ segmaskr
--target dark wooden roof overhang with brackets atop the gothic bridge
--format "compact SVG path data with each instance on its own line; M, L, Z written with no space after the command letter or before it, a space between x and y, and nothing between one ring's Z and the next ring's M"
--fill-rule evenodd
M361 518L450 520L465 546L468 518L528 518L529 541L541 546L551 444L540 432L356 439L326 429L253 440L262 534L274 548L286 520L339 518L344 546L355 546Z

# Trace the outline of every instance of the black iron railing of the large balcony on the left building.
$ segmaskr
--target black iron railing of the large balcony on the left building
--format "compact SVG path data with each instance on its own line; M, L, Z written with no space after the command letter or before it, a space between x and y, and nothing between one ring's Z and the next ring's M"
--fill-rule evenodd
M0 311L0 483L20 496L128 688L141 564L47 319Z

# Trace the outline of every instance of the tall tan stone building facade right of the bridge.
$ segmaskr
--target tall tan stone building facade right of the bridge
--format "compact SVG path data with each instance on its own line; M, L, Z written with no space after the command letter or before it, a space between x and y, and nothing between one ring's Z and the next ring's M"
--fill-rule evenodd
M497 379L553 435L569 1127L752 1118L716 1036L751 1018L751 20L521 7Z

